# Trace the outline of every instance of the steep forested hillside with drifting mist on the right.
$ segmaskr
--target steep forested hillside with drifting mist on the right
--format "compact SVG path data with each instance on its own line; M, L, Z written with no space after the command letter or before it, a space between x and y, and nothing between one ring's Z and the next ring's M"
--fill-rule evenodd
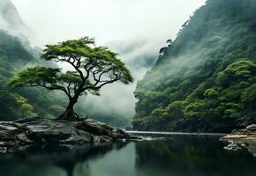
M228 132L254 121L255 9L208 0L195 11L139 82L134 128Z

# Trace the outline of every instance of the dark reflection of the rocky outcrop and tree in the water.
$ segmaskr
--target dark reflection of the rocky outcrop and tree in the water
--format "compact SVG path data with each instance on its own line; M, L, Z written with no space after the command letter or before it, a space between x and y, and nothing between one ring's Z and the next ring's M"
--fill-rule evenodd
M120 150L125 143L99 145L32 145L12 149L0 155L1 176L90 176L88 160L103 158L110 150ZM83 163L82 167L78 167ZM77 174L74 174L77 170Z

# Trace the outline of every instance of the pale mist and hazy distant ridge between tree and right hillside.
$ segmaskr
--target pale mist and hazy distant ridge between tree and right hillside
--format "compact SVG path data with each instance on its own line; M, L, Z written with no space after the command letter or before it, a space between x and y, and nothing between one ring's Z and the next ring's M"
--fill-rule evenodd
M119 54L122 61L132 71L134 82L128 85L106 86L102 89L100 97L88 95L79 101L79 106L84 107L85 114L100 118L101 121L117 126L129 125L135 114L134 107L137 99L134 98L133 92L136 84L146 71L153 67L162 41L118 40L109 42L106 46Z

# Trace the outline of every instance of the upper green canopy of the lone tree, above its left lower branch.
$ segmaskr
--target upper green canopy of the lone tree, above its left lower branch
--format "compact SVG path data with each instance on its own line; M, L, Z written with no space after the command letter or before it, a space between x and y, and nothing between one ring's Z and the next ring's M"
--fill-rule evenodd
M48 61L69 62L78 68L88 66L92 67L91 70L106 68L104 71L108 72L111 77L119 74L118 80L124 84L133 81L130 71L124 66L124 62L117 58L116 53L110 51L109 48L94 47L94 39L88 37L47 45L41 57ZM76 60L79 60L79 65Z

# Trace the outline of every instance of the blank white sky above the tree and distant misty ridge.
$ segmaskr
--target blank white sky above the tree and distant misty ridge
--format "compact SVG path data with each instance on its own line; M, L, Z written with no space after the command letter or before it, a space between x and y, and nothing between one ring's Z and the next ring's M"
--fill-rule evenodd
M175 38L205 0L11 0L44 46L82 36L112 40Z

